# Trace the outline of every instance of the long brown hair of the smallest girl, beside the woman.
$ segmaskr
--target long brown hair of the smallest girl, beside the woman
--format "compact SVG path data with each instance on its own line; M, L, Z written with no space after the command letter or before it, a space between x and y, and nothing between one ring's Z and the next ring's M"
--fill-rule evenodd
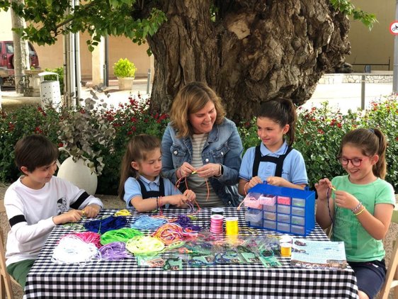
M123 200L125 196L125 181L131 176L135 179L140 177L137 170L132 168L131 162L142 162L147 160L147 154L161 148L158 137L140 134L131 138L127 143L127 150L120 165L119 197Z

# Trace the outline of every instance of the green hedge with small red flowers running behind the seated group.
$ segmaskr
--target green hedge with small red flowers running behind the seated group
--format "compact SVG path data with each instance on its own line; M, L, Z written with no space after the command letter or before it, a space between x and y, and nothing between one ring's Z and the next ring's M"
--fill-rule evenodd
M106 140L105 143L99 139L98 142L93 142L93 151L101 151L102 162L105 164L102 175L98 177L97 193L117 193L120 162L132 135L147 133L162 137L169 117L166 114L151 113L149 106L149 99L137 95L130 97L128 103L120 104L117 108L104 108L101 113L97 111L101 118L93 120L85 116L84 119L87 120L88 125L84 126L87 128L91 128L93 125L101 130L101 126L98 125L103 120L114 130L112 136L109 136L109 140ZM50 140L58 144L58 132L62 133L60 127L62 120L72 117L71 115L74 113L81 113L81 111L74 113L69 111L69 115L67 111L57 113L52 108L43 111L38 107L23 107L11 113L0 113L0 181L11 182L18 178L18 170L13 162L13 147L16 141L23 135L39 133L47 135ZM297 113L296 140L293 147L299 150L305 159L310 187L313 187L314 183L323 177L331 179L339 174L344 174L343 168L336 160L336 155L339 152L341 138L348 130L357 127L377 127L388 138L386 180L398 192L398 104L396 96L389 96L384 101L375 101L365 111L349 111L345 115L334 111L327 103L324 103L321 108L298 108ZM72 127L70 129L72 130ZM258 145L255 120L241 123L238 130L245 150ZM89 131L86 134L89 134Z

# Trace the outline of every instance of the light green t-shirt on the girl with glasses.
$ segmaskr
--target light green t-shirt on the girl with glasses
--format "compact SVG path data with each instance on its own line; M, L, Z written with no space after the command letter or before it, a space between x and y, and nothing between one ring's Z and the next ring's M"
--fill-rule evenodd
M337 190L346 191L355 196L374 215L375 205L391 203L395 205L394 188L382 179L366 185L352 184L346 176L336 176L331 184ZM350 209L335 205L334 231L332 241L342 241L346 247L347 261L381 261L385 256L382 240L369 235Z

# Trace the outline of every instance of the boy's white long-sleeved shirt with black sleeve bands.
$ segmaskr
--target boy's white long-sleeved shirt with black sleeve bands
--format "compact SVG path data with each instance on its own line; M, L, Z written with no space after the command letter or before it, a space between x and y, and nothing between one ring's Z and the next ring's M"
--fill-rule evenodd
M11 184L4 195L7 218L11 225L6 265L36 259L55 227L52 218L71 208L84 208L90 203L103 206L99 198L57 176L53 176L39 190L23 185L21 178Z

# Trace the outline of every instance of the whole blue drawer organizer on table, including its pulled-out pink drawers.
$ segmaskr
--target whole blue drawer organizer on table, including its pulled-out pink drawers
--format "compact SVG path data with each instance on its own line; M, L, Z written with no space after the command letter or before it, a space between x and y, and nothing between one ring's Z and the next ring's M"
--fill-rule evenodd
M250 227L302 236L314 230L314 191L258 184L249 190L244 205Z

